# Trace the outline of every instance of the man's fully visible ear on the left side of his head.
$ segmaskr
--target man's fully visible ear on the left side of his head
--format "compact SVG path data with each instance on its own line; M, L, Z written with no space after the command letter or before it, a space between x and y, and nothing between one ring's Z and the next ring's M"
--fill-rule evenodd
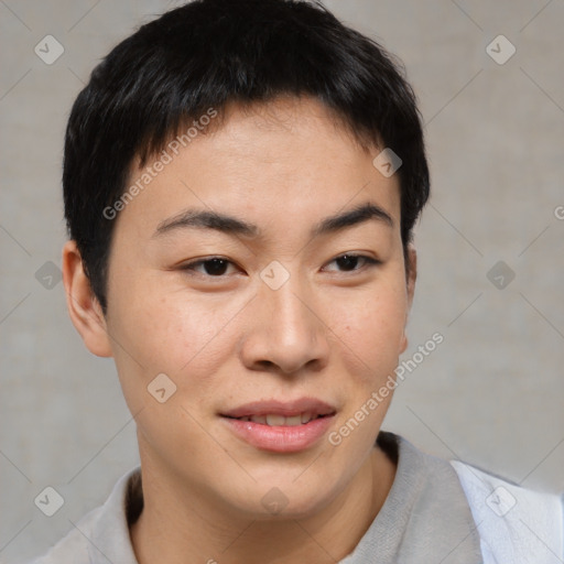
M63 247L63 283L70 321L84 344L96 356L111 357L106 318L84 271L80 252L73 240Z

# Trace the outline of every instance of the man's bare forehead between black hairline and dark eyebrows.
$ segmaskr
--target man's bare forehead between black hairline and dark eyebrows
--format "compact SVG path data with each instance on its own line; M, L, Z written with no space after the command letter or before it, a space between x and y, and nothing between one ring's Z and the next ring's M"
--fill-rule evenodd
M176 152L169 143L144 169L132 167L128 185L151 177L120 221L133 220L154 232L184 209L198 207L246 217L263 232L274 224L311 231L321 217L370 200L399 226L397 175L384 177L372 164L380 149L362 148L319 101L230 105L215 119L205 120L207 127L196 120L195 134ZM151 175L159 161L166 164Z

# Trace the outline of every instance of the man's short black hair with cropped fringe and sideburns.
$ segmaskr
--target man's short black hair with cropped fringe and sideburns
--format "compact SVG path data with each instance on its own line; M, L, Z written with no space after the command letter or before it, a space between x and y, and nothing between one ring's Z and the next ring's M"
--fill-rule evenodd
M115 225L105 210L116 209L124 195L134 160L143 166L183 124L210 109L279 96L317 98L362 147L390 148L401 158L406 252L430 180L422 120L403 65L319 1L195 0L119 43L70 111L65 217L104 313Z

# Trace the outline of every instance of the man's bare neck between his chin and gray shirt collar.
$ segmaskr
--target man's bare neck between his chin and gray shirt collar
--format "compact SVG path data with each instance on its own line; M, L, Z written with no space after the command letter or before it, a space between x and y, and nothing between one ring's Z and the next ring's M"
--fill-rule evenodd
M144 507L130 528L139 564L335 564L366 533L395 475L395 465L376 446L323 510L304 519L263 521L218 508L194 489L161 479L142 454L141 462Z

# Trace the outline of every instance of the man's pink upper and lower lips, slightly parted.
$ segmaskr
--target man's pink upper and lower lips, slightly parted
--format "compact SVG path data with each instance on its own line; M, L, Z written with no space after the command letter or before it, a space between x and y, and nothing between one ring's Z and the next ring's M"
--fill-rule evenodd
M253 421L240 421L235 417L253 415L283 415L291 417L300 413L311 412L319 415L301 425L267 425ZM297 453L315 445L333 424L336 409L313 398L301 398L295 401L276 400L247 403L225 413L221 420L239 438L262 451L274 453Z

